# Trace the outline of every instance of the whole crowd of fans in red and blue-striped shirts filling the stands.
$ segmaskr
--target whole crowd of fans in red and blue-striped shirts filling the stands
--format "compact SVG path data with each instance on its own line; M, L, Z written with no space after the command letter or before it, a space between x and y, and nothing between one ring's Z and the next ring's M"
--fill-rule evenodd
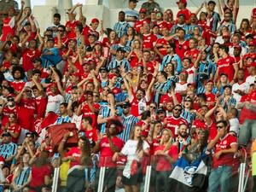
M138 192L147 165L150 191L165 191L195 143L212 155L199 191L237 190L237 138L256 127L256 9L236 23L239 0L177 7L129 0L104 28L78 3L40 31L22 0L0 1L0 191L50 191L58 166L58 191L96 191L104 166L103 191ZM67 123L78 146L70 132L53 146L48 127Z

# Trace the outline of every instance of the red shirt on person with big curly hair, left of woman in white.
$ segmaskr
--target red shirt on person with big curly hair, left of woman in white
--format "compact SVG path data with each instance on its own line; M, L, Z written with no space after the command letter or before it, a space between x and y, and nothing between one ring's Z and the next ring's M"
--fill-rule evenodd
M112 142L120 150L124 147L124 142L119 137L113 137ZM113 151L111 150L108 143L108 137L102 138L102 141L100 143L100 151L101 155L99 160L99 166L115 167L116 163L112 160Z

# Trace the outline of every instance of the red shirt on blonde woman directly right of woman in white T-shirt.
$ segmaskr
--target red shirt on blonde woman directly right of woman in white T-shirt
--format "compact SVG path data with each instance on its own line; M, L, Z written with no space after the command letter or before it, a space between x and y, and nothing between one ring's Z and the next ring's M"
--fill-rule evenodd
M156 151L163 151L166 147L164 145L160 145L159 147L155 148ZM154 153L155 153L154 152ZM172 145L171 148L169 148L168 151L166 151L166 154L168 154L172 159L177 160L178 152L177 152L177 146ZM166 155L156 155L156 167L155 170L158 172L166 172L171 171L172 164L169 160L166 159Z

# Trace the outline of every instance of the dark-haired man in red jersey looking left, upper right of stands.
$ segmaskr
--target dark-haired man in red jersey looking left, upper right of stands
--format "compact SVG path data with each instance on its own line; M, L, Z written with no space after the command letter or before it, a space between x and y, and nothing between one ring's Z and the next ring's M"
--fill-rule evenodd
M229 47L226 45L220 45L218 54L221 57L217 62L217 71L215 73L214 80L217 82L221 73L228 75L228 79L231 82L236 80L237 66L234 65L235 60L229 55Z

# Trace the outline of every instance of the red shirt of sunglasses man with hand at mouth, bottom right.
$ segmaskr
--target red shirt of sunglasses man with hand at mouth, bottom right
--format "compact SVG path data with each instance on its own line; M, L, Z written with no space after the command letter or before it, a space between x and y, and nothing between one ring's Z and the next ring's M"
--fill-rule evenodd
M237 144L237 138L230 133L225 137L220 138L215 145L215 154L223 149L230 149L232 145ZM217 168L218 166L233 166L236 163L234 154L221 154L218 159L212 157L212 167Z

